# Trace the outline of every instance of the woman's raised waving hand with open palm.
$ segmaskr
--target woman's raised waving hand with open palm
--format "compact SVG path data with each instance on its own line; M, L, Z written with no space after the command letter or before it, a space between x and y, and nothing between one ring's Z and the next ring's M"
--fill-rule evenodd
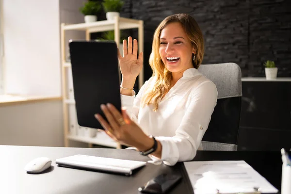
M118 51L118 59L122 77L127 80L135 80L143 67L143 52L139 53L137 57L138 44L137 40L133 40L129 36L127 41L123 40L123 56Z

